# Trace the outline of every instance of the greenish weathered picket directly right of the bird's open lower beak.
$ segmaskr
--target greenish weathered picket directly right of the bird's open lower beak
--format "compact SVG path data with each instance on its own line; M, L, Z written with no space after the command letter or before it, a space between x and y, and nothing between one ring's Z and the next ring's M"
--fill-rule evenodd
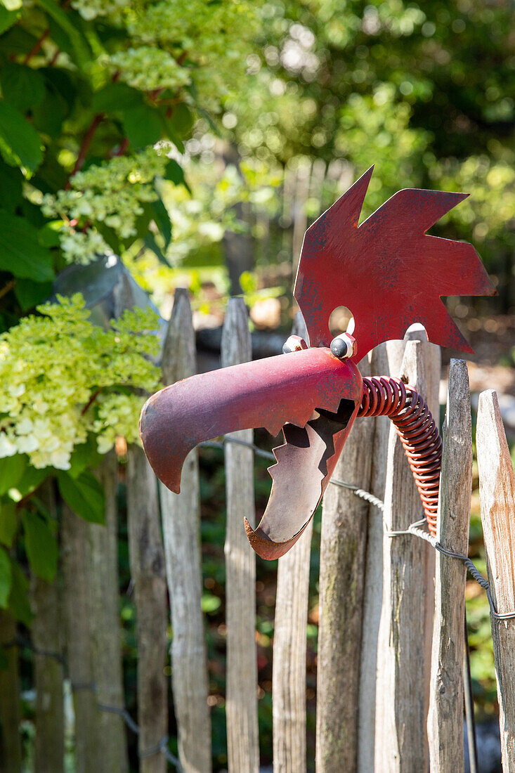
M369 373L367 359L360 363ZM370 489L373 419L356 419L333 478ZM316 765L319 773L357 766L361 631L368 502L329 484L322 505Z

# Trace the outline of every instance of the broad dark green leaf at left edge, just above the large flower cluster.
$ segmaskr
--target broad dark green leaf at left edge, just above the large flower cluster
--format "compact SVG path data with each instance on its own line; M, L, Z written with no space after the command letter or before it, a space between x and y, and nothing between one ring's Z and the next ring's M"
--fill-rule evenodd
M0 269L32 281L53 279L52 253L39 243L37 229L24 217L0 211Z

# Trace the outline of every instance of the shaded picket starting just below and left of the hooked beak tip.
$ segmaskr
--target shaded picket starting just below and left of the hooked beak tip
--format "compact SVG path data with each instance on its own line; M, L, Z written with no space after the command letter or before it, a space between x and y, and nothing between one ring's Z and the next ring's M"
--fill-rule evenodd
M165 553L162 547L157 478L142 448L127 451L127 522L138 640L138 751L140 773L165 773L159 746L168 731L168 640Z

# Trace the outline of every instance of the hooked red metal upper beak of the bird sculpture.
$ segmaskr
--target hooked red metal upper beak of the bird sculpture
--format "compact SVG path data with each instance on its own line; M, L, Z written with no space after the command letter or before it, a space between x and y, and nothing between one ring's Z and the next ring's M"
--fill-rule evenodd
M143 448L155 474L179 493L182 464L197 443L220 434L265 427L276 435L290 422L304 427L316 407L361 400L354 363L329 349L303 349L200 373L156 393L140 420Z

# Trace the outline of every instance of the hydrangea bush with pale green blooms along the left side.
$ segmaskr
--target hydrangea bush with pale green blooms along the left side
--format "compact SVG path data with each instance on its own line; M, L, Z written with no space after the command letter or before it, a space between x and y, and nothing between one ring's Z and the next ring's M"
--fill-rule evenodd
M223 112L253 34L250 0L0 0L0 607L27 625L15 557L51 581L58 552L39 485L101 523L91 469L138 441L159 384L152 315L101 329L80 296L45 302L53 280L109 253L166 264L162 193L190 195L185 142Z

